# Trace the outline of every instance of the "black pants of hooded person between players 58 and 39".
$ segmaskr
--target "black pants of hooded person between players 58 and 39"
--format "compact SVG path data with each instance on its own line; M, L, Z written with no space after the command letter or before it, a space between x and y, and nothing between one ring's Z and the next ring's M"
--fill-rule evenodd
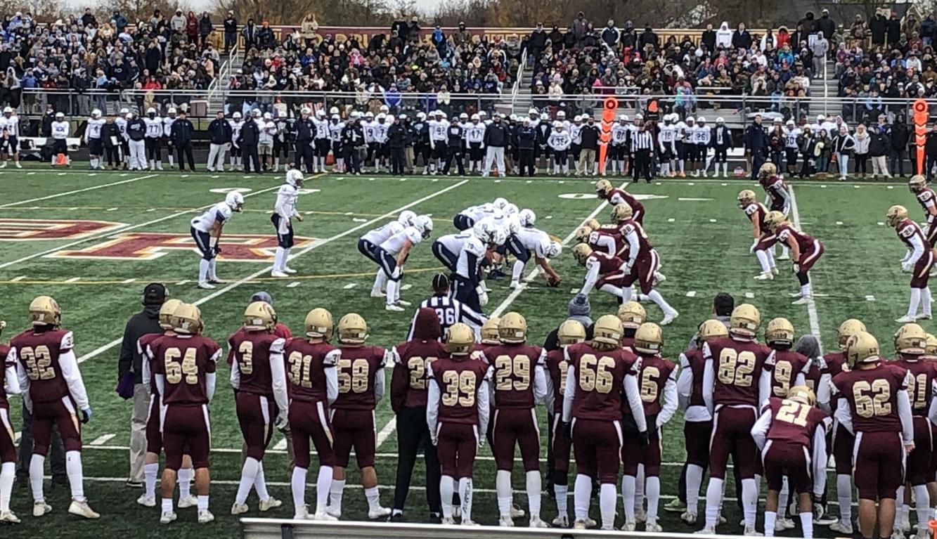
M429 439L426 427L426 407L403 408L397 412L397 481L394 486L394 509L403 511L407 502L410 478L417 453L423 449L426 465L426 503L429 512L442 513L439 502L439 457L436 446Z

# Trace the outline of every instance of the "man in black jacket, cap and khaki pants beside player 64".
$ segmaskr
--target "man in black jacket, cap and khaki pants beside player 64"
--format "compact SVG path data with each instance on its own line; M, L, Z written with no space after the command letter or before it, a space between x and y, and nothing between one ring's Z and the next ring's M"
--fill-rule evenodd
M178 122L178 120L176 120ZM159 307L166 301L166 287L151 283L143 289L143 310L130 317L117 360L117 378L133 376L133 412L130 415L130 472L126 483L143 484L143 457L146 455L146 418L150 412L150 388L143 383L142 357L137 341L144 335L163 333L159 327ZM127 374L130 373L130 374Z

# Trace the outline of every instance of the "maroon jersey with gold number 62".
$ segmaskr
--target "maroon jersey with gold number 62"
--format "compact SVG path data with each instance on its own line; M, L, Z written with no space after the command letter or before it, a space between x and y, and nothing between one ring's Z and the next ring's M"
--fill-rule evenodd
M907 371L891 363L868 370L840 372L833 379L836 398L845 398L855 432L901 432L898 392L908 389Z

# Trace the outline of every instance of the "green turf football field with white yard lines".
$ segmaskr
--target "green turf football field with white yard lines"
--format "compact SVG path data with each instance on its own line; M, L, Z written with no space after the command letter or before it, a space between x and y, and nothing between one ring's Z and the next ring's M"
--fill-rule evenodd
M540 344L565 318L567 302L584 274L573 260L573 230L587 217L607 222L611 209L595 198L592 180L572 177L313 176L306 179L298 203L305 221L295 223L297 239L290 262L298 273L275 279L269 277L276 247L270 213L282 178L282 173L60 172L48 167L0 171L0 320L7 321L3 339L26 327L26 307L33 297L52 295L62 307L63 326L74 332L94 410L82 432L82 459L85 492L92 507L101 513L97 521L68 516L67 487L52 487L47 482L47 498L54 512L49 517L33 518L28 482L18 482L12 509L23 522L5 529L5 536L64 532L101 537L133 530L137 536L156 537L167 532L158 525L158 507L138 505L135 500L140 490L124 485L131 406L113 391L120 338L126 320L141 308L145 284L165 283L172 297L198 305L206 335L219 344L224 344L241 323L251 294L266 291L274 297L279 320L294 333L302 333L308 310L325 307L335 321L348 312L360 313L369 324L369 343L390 347L406 339L412 311L387 312L383 299L370 297L376 267L358 252L358 237L405 209L431 215L433 236L439 237L454 232L453 216L461 209L504 197L536 212L537 227L564 239L564 247L568 247L554 262L563 277L557 288L548 288L542 277L515 292L508 288L508 280L488 281L487 313L519 311L527 318L530 340ZM615 178L613 183L620 185L623 180ZM733 294L736 305L749 302L758 307L763 327L773 317L788 318L798 335L820 337L825 351L837 347L836 327L851 317L866 322L882 343L883 352L892 351L891 335L898 327L894 320L907 308L910 277L900 272L905 251L895 232L885 226L885 211L901 203L911 217L921 220L914 196L899 183L791 181L789 185L796 200L792 222L825 245L825 255L811 271L815 301L805 306L791 305L795 299L791 294L799 287L789 262L779 262L781 275L773 281L752 278L759 268L749 253L751 225L736 207L736 194L752 188L761 198L762 191L753 182L683 178L627 187L643 200L647 208L645 230L661 254L661 271L667 278L658 290L680 313L676 322L664 328L667 357L676 358L696 325L709 317L716 292ZM222 201L231 189L244 193L245 211L231 218L219 244L223 252L217 262L218 276L225 282L213 291L199 290L200 255L189 235L189 219ZM430 252L430 243L428 240L413 248L404 272L401 298L414 305L428 296L430 278L441 267ZM528 264L528 272L532 266ZM594 291L589 299L593 320L617 308L615 298L604 292ZM662 318L656 306L646 307L651 321ZM931 321L922 325L934 331ZM179 510L179 520L169 527L179 537L203 536L206 528L217 536L230 537L238 529L237 518L229 512L240 478L241 434L228 374L227 365L219 364L218 391L211 404L211 509L216 522L199 526L195 509ZM21 399L12 397L11 414L17 430L20 408ZM545 473L545 414L542 417ZM396 436L387 398L379 404L377 427L381 502L390 506ZM677 494L684 457L679 415L664 427L663 442L662 505ZM264 471L271 494L284 505L262 516L291 517L290 476L285 441L279 433L275 433L271 448ZM526 509L523 472L519 461L517 465L514 499ZM360 487L354 487L354 468L351 464L344 518L366 518L364 494ZM413 521L427 517L427 486L422 478L423 466L418 462L407 511ZM310 480L315 480L314 474ZM830 500L835 501L835 480L832 484ZM476 462L474 486L475 520L497 524L495 468L487 446ZM315 502L313 487L309 486L307 502ZM731 486L728 490L727 496L734 496ZM248 505L252 511L246 516L261 516L253 494ZM571 501L571 511L572 507ZM729 522L719 531L740 533L735 503L727 502L725 508ZM832 512L836 514L835 506ZM598 518L596 503L593 513ZM666 532L696 530L682 524L675 514L661 513ZM556 516L550 497L543 499L542 516L547 521ZM618 516L620 525L620 502ZM524 518L518 524L526 522ZM817 533L829 534L825 527L818 527Z

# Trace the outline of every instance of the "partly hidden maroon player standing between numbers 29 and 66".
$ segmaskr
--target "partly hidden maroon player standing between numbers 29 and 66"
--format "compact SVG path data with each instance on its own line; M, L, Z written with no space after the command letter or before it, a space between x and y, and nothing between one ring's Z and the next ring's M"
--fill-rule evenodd
M570 527L568 494L570 485L570 441L563 434L563 394L566 393L566 347L586 340L586 328L581 322L567 320L557 330L559 348L546 354L546 371L550 375L553 391L547 393L546 409L550 413L553 440L553 493L557 500L557 517L553 525ZM594 524L593 524L594 525Z

